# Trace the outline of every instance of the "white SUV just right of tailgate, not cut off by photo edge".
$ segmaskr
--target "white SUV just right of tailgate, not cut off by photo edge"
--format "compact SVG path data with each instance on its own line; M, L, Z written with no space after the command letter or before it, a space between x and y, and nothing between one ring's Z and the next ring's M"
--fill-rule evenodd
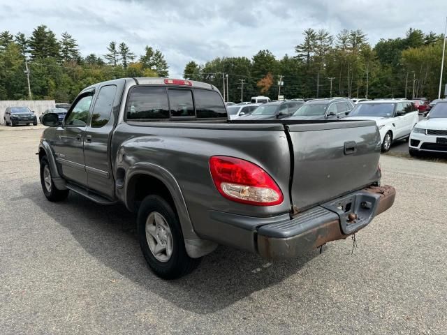
M407 139L418 123L418 109L411 101L379 100L358 103L348 120L374 120L379 128L382 151L390 149L395 140Z

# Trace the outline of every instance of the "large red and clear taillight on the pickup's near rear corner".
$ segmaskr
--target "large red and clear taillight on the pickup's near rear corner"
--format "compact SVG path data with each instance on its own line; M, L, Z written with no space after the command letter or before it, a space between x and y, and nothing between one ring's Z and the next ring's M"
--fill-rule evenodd
M217 191L229 200L256 206L272 206L284 200L272 177L249 161L213 156L210 158L210 171Z

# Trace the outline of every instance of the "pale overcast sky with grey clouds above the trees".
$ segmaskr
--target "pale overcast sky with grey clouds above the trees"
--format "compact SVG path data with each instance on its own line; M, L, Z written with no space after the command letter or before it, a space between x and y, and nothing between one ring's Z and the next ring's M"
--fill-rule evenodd
M135 54L145 45L165 54L171 77L184 65L214 57L251 57L269 49L292 55L308 27L362 29L369 41L404 36L414 27L441 34L447 0L0 0L0 31L29 36L46 24L57 36L68 31L80 51L103 55L110 40Z

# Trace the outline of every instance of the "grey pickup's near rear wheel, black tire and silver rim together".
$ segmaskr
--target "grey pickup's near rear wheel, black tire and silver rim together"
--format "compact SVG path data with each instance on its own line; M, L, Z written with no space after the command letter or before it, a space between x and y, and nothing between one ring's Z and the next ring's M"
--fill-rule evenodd
M175 210L158 195L148 195L142 200L137 230L142 254L157 276L179 278L189 274L200 263L200 258L190 258L186 253Z

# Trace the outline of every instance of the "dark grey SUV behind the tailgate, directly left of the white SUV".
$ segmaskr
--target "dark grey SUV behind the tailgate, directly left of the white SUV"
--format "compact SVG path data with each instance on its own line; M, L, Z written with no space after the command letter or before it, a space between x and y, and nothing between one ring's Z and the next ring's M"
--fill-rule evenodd
M346 98L314 99L302 105L290 119L323 120L346 117L353 104Z

